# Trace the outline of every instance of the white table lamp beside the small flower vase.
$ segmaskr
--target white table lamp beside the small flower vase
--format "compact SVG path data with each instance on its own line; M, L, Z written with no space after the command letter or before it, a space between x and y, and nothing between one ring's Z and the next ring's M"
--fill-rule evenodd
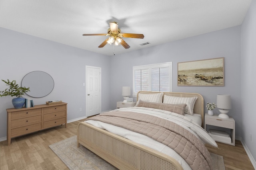
M217 95L217 107L220 111L219 117L228 119L228 111L231 109L231 96L227 94Z

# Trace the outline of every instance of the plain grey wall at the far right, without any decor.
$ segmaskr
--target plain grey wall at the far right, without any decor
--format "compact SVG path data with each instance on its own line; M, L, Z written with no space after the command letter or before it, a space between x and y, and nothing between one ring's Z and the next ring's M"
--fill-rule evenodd
M256 1L253 0L242 24L242 140L256 158ZM252 135L252 140L250 137Z

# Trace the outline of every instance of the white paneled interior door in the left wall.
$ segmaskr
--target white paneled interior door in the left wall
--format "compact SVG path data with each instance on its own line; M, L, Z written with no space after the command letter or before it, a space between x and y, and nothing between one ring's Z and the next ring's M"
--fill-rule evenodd
M86 116L101 112L101 68L86 66Z

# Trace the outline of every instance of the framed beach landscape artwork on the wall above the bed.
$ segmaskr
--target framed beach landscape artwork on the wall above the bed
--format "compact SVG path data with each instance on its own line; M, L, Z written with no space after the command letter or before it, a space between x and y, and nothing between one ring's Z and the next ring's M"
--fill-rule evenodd
M224 86L224 57L178 63L178 86Z

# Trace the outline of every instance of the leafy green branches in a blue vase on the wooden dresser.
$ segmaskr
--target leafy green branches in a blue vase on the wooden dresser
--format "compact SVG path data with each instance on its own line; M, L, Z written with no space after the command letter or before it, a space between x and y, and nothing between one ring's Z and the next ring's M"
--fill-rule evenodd
M2 96L16 96L16 98L12 99L12 104L16 109L20 109L25 104L25 98L22 98L24 93L30 91L29 87L20 87L18 84L16 84L16 80L2 80L6 83L9 88L6 88L3 91L0 91L0 97Z

